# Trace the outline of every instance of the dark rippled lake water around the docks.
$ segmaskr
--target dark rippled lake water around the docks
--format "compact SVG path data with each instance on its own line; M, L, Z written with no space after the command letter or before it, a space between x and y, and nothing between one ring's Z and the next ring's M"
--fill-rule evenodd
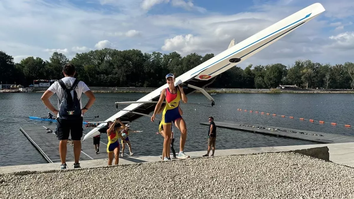
M43 117L48 113L41 102L42 93L0 93L0 166L47 163L35 147L19 130L20 126L52 125L42 123L34 124L28 121L28 116ZM104 121L116 113L114 102L136 101L146 93L95 93L96 102L85 114L85 117L99 115L97 119L89 121ZM215 121L242 121L259 125L287 127L299 130L335 133L354 136L354 127L333 126L330 124L310 123L306 120L281 118L279 116L261 115L238 111L247 109L270 114L294 116L297 118L322 120L338 124L353 125L354 97L352 94L263 94L263 93L237 93L216 94L214 107L210 105L206 97L199 93L188 95L189 103L183 104L183 118L187 123L188 137L185 144L185 152L207 149L207 126L200 122L207 122L209 116ZM52 103L56 106L57 98L52 97ZM82 103L87 102L83 95ZM200 103L200 105L196 105ZM123 109L127 105L120 105ZM161 115L156 116L161 118ZM132 133L130 140L133 152L136 155L160 155L163 138L156 135L158 121L152 123L148 117L142 117L130 124L132 130L142 130L141 133ZM176 129L176 128L175 128ZM89 130L85 129L87 133ZM175 150L179 150L179 133L175 135ZM107 137L101 136L101 141L107 143ZM279 138L250 132L242 132L230 129L217 129L217 149L289 146L301 144L315 144L316 142ZM94 147L92 145L92 147ZM105 150L104 147L101 150ZM217 153L217 152L216 152Z

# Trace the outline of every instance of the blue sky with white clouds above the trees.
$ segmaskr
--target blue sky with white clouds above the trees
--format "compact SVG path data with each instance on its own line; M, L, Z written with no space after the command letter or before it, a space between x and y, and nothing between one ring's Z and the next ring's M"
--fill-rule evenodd
M15 62L105 47L217 55L316 2L324 13L240 67L354 62L353 0L1 0L0 50Z

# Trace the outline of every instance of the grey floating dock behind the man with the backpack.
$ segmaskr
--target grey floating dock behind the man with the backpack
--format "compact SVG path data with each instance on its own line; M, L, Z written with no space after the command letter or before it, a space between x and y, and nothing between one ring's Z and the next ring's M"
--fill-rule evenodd
M60 163L59 140L53 134L55 126L24 126L20 130L28 140L39 150L48 163ZM51 130L53 132L51 132ZM70 138L70 137L69 137ZM68 141L66 161L74 161L74 145ZM108 158L106 152L107 144L101 142L99 152L96 154L93 139L81 140L81 160L94 160Z

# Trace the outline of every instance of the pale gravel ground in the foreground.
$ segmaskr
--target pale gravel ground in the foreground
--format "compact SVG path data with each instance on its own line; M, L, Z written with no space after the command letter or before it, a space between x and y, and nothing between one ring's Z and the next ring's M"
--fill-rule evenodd
M2 180L1 180L2 179ZM0 176L0 198L354 198L354 169L297 153Z

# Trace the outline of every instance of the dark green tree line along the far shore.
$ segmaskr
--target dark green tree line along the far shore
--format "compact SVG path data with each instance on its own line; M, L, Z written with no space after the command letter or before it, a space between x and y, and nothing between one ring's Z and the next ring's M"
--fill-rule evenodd
M54 52L49 61L27 57L14 63L12 56L0 51L0 81L5 84L28 86L37 79L61 79L62 67L71 62L76 77L91 87L159 87L166 83L165 75L182 75L212 58L191 53L182 57L177 52L143 53L140 50L102 49L76 53L69 60ZM245 69L235 66L219 75L210 88L270 89L278 85L297 85L302 88L353 89L354 64L321 64L310 60L295 61L292 66L281 63L250 64Z

